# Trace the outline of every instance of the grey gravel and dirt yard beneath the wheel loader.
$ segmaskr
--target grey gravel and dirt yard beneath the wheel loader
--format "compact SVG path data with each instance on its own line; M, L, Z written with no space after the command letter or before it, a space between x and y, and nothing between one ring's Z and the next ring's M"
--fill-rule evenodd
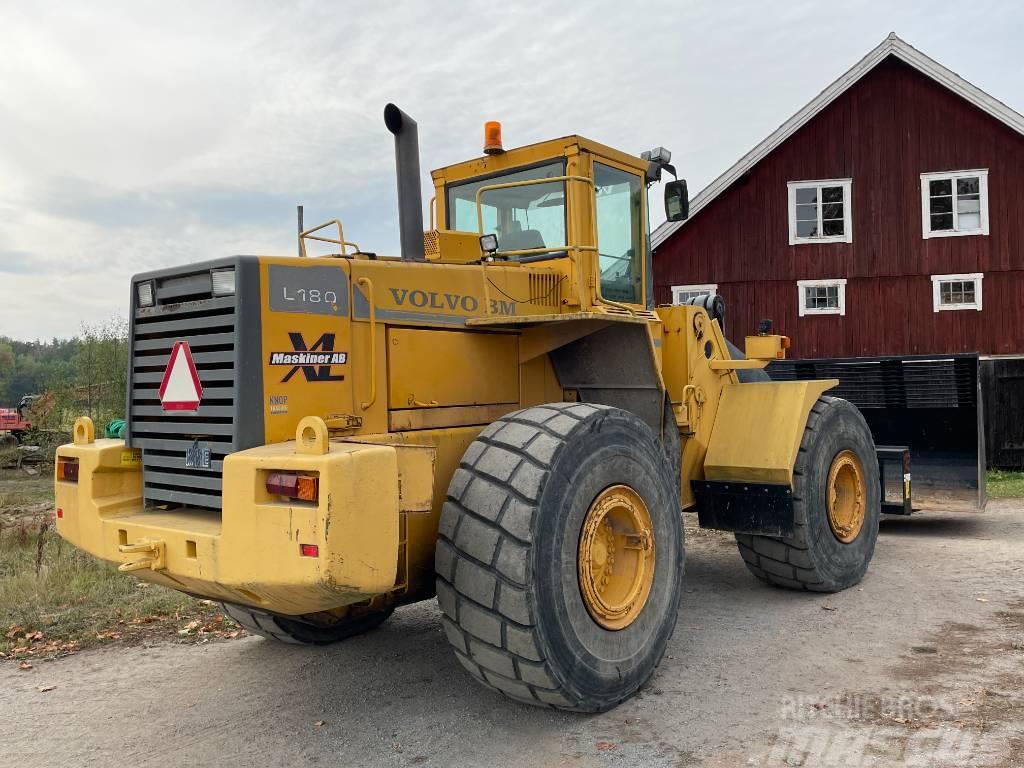
M259 638L0 664L7 765L1024 766L1024 503L888 519L864 583L762 586L688 530L650 684L583 717L459 667L433 601L330 648Z

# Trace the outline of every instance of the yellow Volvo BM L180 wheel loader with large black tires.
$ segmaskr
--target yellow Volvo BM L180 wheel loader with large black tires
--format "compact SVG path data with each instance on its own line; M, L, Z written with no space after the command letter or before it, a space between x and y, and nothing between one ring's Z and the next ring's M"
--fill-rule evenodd
M332 221L300 258L132 280L127 434L83 418L57 450L65 538L284 642L436 594L470 675L588 712L662 659L681 511L733 531L763 581L860 580L880 499L856 409L835 381L739 381L785 337L733 355L716 304L654 307L666 151L504 151L488 126L482 157L434 171L424 232L416 124L393 105L385 122L400 256ZM685 215L684 185L667 208Z

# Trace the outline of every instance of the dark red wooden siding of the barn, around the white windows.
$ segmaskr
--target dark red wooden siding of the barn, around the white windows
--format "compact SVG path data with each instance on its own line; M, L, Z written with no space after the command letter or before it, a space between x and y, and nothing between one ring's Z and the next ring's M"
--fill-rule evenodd
M921 174L989 169L990 234L922 237ZM852 178L853 242L788 245L786 182ZM654 257L655 297L716 283L739 339L771 317L794 357L1024 352L1024 137L890 57ZM932 274L983 272L983 309L935 312ZM846 278L846 315L799 317L798 280Z

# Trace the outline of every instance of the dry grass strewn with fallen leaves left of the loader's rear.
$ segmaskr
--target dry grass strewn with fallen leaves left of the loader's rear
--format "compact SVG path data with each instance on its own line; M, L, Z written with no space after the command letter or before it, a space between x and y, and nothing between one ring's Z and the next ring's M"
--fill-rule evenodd
M239 634L215 603L121 573L66 542L53 530L52 479L22 477L0 477L0 653Z

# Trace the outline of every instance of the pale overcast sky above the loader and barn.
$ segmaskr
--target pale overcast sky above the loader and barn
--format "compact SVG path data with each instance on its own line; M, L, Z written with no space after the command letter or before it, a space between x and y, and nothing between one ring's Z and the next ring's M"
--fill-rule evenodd
M1018 2L432 5L0 0L0 336L123 315L137 271L294 253L297 204L397 253L387 101L425 189L501 120L506 146L664 144L695 193L891 31L1024 110Z

